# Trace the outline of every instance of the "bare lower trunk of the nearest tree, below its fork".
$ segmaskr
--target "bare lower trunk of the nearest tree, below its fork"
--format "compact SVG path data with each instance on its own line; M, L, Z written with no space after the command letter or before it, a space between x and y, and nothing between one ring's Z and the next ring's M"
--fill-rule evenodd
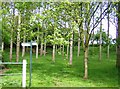
M84 51L84 79L88 78L88 47Z

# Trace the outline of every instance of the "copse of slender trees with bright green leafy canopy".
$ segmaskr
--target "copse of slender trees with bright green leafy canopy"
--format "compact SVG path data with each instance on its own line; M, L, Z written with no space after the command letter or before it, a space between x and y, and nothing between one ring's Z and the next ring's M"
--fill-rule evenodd
M57 49L60 49L63 56L66 52L69 65L73 63L73 48L77 40L76 56L79 58L81 47L84 51L84 79L88 78L88 53L91 40L100 43L100 60L102 43L108 44L109 58L109 23L106 35L102 31L102 20L108 15L109 22L110 10L114 6L111 2L8 2L5 4L3 4L3 39L4 36L8 36L10 42L4 40L3 43L10 45L10 61L12 61L13 43L16 44L16 61L18 62L20 43L30 40L36 40L38 43L36 59L38 59L39 49L40 56L43 55L43 51L45 56L47 44L50 44L52 45L52 62L55 62ZM94 31L99 25L99 31L95 34ZM24 56L25 48L23 47L22 57Z

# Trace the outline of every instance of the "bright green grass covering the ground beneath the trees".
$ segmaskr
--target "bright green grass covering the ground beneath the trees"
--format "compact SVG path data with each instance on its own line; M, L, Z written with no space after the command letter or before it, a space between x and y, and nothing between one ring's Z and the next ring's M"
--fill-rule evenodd
M32 87L117 87L118 75L115 67L116 54L114 49L110 49L110 59L106 58L106 49L102 50L102 60L98 60L98 48L90 47L89 51L89 78L83 79L84 75L84 55L81 51L80 57L77 57L77 48L74 50L73 65L69 66L68 61L61 55L56 56L56 62L51 61L51 50L48 54L39 59L35 59L33 54L32 63ZM5 60L9 61L9 51L4 54ZM15 59L15 53L13 55ZM27 86L29 86L29 53L25 55L27 65ZM13 60L14 61L14 60ZM22 60L20 60L22 61ZM20 65L7 65L9 68L6 73L20 73ZM3 76L2 86L20 87L22 76Z

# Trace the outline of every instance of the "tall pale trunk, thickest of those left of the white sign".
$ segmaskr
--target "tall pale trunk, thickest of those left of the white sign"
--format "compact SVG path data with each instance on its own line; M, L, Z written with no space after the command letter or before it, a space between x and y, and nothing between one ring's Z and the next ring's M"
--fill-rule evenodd
M18 16L18 30L17 30L17 49L16 49L16 62L19 61L19 51L20 51L20 15Z

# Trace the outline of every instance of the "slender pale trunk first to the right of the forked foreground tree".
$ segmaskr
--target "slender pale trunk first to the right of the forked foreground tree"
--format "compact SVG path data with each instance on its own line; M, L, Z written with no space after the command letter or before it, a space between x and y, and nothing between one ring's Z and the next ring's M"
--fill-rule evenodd
M102 14L102 4L100 7L100 13ZM100 48L99 48L99 60L101 60L102 56L102 21L100 23Z

